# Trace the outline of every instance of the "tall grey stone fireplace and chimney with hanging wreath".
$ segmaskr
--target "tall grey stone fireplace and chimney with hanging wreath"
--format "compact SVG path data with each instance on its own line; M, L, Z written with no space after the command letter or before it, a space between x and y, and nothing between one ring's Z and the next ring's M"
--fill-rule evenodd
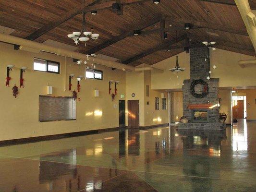
M219 120L219 78L207 80L210 76L209 49L190 48L190 79L183 82L183 116L188 123L179 123L178 129L223 129L224 123ZM195 97L191 92L191 85L194 80L200 80L207 83L196 84L194 92L201 94L206 92L202 98ZM206 91L207 89L207 91Z

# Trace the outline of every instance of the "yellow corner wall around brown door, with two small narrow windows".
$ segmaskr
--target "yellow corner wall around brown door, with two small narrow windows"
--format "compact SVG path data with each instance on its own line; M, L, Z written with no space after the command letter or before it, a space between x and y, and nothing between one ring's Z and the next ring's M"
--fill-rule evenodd
M149 85L149 97L146 96L146 85ZM135 94L132 97L132 93ZM167 109L162 109L161 93L165 93ZM168 94L166 92L151 89L151 72L127 72L126 74L127 100L139 100L140 102L140 126L151 126L169 123ZM155 97L159 97L159 110L155 110ZM146 102L149 101L149 105ZM127 106L127 105L126 105ZM126 107L126 125L127 107Z

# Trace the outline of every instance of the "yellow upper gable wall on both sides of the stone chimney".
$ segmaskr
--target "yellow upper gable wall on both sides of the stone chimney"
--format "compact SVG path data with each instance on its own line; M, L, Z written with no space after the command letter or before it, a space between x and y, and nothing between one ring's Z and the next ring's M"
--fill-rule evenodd
M219 87L256 86L256 65L242 69L239 60L252 60L254 57L226 51L222 49L210 50L211 77L219 78ZM153 71L151 74L152 89L181 89L183 80L190 79L189 54L179 54L179 64L185 68L184 72L173 73L169 69L175 66L176 56L162 60L154 67L163 69L163 73ZM212 69L216 65L217 69ZM177 78L178 76L178 78Z

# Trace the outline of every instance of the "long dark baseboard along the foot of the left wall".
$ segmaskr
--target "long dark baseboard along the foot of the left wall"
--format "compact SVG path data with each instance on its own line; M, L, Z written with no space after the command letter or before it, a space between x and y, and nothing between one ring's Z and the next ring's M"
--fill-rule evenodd
M118 130L119 130L119 127L113 127L113 128L97 129L97 130L82 131L82 132L68 132L68 133L61 133L56 135L46 135L46 136L38 136L38 137L4 140L4 141L0 141L0 146L35 143L39 141L49 141L49 140L63 139L68 137L78 137L78 136L84 136L84 135L90 135L90 134L98 134L102 132L114 132Z

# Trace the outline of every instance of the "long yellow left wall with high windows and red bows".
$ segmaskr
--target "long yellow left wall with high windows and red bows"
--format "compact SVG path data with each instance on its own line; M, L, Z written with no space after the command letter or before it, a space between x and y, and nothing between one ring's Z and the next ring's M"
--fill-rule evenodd
M33 71L34 57L60 62L61 74ZM15 65L10 72L10 87L5 86L7 64ZM24 88L19 89L18 97L14 98L12 86L19 86L21 66L27 66L28 70L24 73ZM47 84L54 87L54 96L72 96L68 91L68 75L65 82L67 90L63 90L64 57L45 52L34 54L14 50L12 45L0 43L0 141L118 127L118 99L121 94L126 93L126 72L112 71L111 68L100 65L97 65L97 69L103 70L103 81L83 79L80 83L81 92L78 97L81 100L77 101L76 120L38 122L38 96L46 95ZM81 67L80 74L84 75L84 70ZM67 58L67 74L69 73L78 75L78 66L73 63L73 59ZM109 80L120 81L114 102L108 91ZM75 79L72 84L72 89L76 89ZM99 90L99 97L94 97L95 89Z

